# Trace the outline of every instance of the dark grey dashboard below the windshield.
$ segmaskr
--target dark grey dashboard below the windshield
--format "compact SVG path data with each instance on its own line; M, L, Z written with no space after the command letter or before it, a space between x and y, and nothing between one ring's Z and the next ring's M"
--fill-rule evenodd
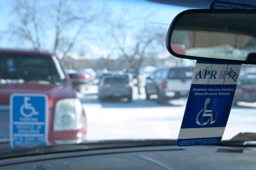
M0 160L0 169L256 169L256 148L152 146L71 151Z

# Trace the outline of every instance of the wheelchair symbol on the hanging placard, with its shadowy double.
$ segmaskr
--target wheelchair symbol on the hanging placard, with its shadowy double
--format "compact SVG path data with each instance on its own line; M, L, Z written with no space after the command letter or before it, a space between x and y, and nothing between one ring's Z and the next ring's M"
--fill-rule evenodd
M205 104L204 104L204 109L200 110L196 116L196 123L199 126L204 126L207 125L209 122L210 124L215 123L215 120L217 118L218 112L215 109L216 103L217 103L217 98L212 99L212 108L211 110L206 110L207 104L209 104L211 101L210 98L205 99ZM203 114L201 114L203 113ZM215 113L215 114L213 114ZM213 115L215 115L215 118L213 118ZM209 117L207 121L205 121L204 118Z

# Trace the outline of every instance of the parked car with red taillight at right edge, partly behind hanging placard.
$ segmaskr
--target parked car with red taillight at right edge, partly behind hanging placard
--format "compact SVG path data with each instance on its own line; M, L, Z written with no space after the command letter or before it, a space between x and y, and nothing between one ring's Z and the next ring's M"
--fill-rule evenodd
M238 101L256 102L256 79L239 77L233 99L233 105Z

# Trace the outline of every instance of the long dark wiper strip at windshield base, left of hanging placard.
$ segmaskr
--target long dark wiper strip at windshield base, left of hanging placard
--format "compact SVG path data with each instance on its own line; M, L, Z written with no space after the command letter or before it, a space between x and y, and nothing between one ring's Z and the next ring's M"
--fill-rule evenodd
M38 154L50 154L71 151L84 151L96 149L113 149L129 147L150 147L150 146L170 146L176 145L176 140L152 139L152 140L104 140L84 142L78 144L66 144L44 147L29 147L20 149L0 150L0 159L14 158L19 156L29 156Z

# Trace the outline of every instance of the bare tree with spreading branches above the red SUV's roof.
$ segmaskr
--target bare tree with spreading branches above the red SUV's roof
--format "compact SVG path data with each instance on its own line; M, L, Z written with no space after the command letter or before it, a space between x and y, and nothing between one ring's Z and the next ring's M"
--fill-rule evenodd
M43 4L37 0L32 3L16 0L14 14L17 19L10 24L9 33L22 42L31 43L34 49L50 48L54 53L62 52L63 59L79 42L81 35L89 34L88 24L97 22L104 10L76 0L59 0L57 4L49 1ZM52 43L50 47L49 39Z

